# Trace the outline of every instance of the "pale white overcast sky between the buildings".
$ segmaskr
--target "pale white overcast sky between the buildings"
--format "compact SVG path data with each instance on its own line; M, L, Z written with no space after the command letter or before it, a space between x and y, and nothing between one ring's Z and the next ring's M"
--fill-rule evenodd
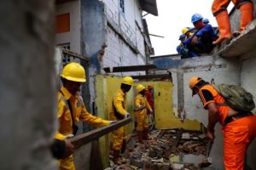
M213 0L212 0L213 1ZM201 14L210 20L212 26L217 22L212 15L212 1L209 0L156 0L158 16L148 14L143 18L147 20L150 34L163 36L150 36L155 55L177 54L178 37L184 27L193 27L191 17ZM232 8L232 5L230 5Z

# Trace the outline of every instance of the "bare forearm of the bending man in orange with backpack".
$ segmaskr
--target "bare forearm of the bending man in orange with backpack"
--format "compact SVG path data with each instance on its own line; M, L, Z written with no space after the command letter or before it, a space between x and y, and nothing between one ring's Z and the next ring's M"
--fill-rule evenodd
M207 109L208 109L207 136L213 142L213 140L215 139L214 127L218 122L218 106L216 105L216 103L209 103L207 105Z

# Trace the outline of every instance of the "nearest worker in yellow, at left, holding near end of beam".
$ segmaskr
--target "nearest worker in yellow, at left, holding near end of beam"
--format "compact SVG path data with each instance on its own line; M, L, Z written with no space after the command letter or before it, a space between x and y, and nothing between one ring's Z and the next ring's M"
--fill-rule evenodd
M79 95L82 82L86 82L85 71L78 63L67 64L61 73L63 87L58 92L59 133L64 136L75 135L78 131L77 122L80 120L96 127L108 126L111 121L92 116L85 108L84 101ZM75 170L73 155L60 160L61 170Z

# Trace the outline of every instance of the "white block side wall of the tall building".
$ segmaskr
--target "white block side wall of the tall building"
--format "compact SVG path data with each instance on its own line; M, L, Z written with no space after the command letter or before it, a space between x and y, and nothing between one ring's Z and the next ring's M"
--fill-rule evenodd
M137 47L139 54L134 53L131 48L112 28L107 27L108 48L103 57L103 67L124 66L124 65L144 65L145 64L145 47L141 31L138 25L143 28L141 9L138 1L125 0L125 13L119 8L119 0L103 0L105 3L106 14L108 20L119 27L124 37ZM143 74L143 72L137 72Z

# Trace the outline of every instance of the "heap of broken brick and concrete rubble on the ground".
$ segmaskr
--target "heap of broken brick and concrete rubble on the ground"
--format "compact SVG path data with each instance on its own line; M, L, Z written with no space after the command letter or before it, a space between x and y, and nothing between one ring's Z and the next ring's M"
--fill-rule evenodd
M136 135L132 135L127 150L122 155L125 161L118 161L110 169L125 170L195 170L200 169L206 156L207 136L200 132L183 131L182 138L176 141L178 130L153 130L149 140L138 143ZM110 168L110 169L109 169Z

